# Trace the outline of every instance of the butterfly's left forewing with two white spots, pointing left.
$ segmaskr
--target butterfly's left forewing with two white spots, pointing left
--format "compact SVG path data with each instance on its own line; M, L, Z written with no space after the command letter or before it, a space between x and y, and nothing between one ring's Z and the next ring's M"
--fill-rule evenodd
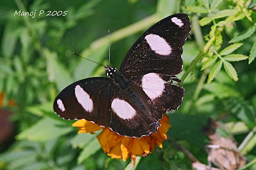
M113 97L109 78L86 78L68 85L54 100L54 111L68 120L86 119L108 126L109 105Z

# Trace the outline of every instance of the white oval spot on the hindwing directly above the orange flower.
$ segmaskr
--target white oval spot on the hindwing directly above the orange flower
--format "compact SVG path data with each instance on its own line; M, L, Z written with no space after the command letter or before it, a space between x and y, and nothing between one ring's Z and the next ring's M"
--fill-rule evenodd
M136 115L136 110L132 108L131 104L121 99L113 99L111 108L122 119L130 119Z

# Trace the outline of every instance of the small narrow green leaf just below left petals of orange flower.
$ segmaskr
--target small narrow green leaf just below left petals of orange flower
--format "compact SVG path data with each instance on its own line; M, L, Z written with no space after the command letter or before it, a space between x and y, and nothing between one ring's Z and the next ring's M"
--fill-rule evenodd
M81 164L83 160L87 159L101 148L97 138L94 138L88 145L86 145L77 159L77 163Z

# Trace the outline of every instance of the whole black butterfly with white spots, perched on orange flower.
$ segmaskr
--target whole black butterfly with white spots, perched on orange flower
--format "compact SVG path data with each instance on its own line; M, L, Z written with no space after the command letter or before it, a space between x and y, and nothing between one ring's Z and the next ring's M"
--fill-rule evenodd
M191 31L188 15L160 20L131 46L120 69L105 66L107 77L68 85L54 111L68 120L86 119L121 136L141 138L157 131L166 111L182 104L182 46Z

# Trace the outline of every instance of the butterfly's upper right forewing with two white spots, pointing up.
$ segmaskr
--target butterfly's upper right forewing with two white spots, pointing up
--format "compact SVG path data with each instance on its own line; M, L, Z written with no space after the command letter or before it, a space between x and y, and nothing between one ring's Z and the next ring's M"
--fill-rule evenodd
M189 17L184 13L170 15L157 22L132 45L120 72L128 77L147 73L180 73L182 46L190 30Z

